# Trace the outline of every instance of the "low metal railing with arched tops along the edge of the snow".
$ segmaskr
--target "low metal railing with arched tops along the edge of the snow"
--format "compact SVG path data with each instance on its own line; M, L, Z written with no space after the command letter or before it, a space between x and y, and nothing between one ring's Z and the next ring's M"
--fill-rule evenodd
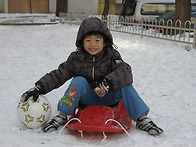
M87 17L98 17L105 22L109 30L140 35L141 38L153 37L175 42L192 44L196 48L196 25L186 21L184 25L180 20L173 24L172 20L141 21L137 22L133 18L119 17L118 15L90 15L87 13L61 13L60 22L79 25ZM184 26L184 27L183 27Z

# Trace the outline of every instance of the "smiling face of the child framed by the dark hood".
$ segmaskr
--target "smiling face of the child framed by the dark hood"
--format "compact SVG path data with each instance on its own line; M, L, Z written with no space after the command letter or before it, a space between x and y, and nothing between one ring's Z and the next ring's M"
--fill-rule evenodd
M84 49L91 55L101 52L105 46L101 35L88 35L83 39Z

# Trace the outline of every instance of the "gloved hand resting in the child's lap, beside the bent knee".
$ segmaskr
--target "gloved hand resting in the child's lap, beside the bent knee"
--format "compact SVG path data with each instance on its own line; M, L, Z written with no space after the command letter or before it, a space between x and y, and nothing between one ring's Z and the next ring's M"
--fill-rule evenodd
M103 79L102 82L98 84L98 86L94 89L94 92L100 96L104 97L105 94L110 90L109 82L106 79Z

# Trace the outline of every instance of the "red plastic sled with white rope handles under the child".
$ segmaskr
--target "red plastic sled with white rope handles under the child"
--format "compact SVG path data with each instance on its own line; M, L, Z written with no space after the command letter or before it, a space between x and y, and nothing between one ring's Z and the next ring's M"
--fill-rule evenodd
M68 121L66 128L90 132L124 132L131 128L131 117L122 100L112 108L107 106L88 106L78 108Z

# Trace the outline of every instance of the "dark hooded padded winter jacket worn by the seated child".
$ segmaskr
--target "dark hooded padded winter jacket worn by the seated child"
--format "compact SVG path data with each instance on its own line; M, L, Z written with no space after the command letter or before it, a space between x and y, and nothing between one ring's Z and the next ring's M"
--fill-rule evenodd
M90 32L99 32L106 37L104 49L96 55L88 54L83 48L83 38ZM100 19L85 19L76 38L78 50L72 52L67 61L61 63L58 69L47 73L35 84L42 85L43 94L60 87L67 80L77 76L84 77L92 88L95 88L104 78L110 83L110 90L132 84L131 67L122 60L119 52L112 45L112 35Z

